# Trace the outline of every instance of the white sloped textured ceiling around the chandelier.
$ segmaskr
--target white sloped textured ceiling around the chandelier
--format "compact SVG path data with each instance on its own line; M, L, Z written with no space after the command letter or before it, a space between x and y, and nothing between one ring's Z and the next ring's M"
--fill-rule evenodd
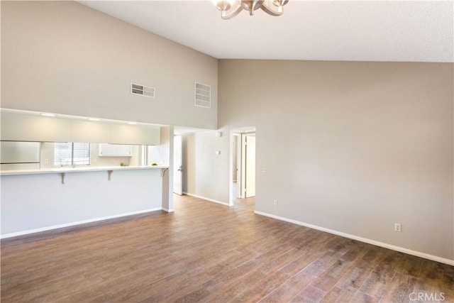
M211 1L80 2L216 58L454 62L454 0L289 0L230 20Z

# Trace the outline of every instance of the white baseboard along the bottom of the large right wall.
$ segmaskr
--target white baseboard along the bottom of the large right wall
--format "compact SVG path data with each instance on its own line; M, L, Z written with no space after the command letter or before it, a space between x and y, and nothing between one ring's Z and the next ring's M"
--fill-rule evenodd
M333 229L324 228L324 227L316 226L316 225L312 225L312 224L307 224L307 223L304 223L304 222L301 222L301 221L297 221L297 220L287 219L287 218L284 218L282 216L275 216L274 214L267 214L267 213L262 212L262 211L254 211L254 214L259 214L261 216L268 216L268 217L270 217L272 219L277 219L277 220L286 221L286 222L297 224L297 225L301 225L301 226L306 226L306 227L309 227L309 228L316 229L318 231L324 231L326 233L333 233L334 235L341 236L341 237L344 237L344 238L350 238L350 239L361 241L361 242L364 242L364 243L369 243L369 244L372 244L372 245L375 245L375 246L380 246L380 247L388 248L388 249L391 249L391 250L397 250L397 251L399 251L401 253L407 253L409 255L416 255L416 257L421 257L421 258L425 258L425 259L428 259L428 260L433 260L433 261L436 261L436 262L445 263L445 264L454 266L454 260L441 258L441 257L438 257L436 255L429 255L428 253L421 253L421 252L416 251L416 250L411 250L411 249L403 248L403 247L400 247L400 246L394 246L392 244L383 243L383 242L371 240L371 239L368 239L368 238L362 238L362 237L359 237L359 236L351 235L350 233L343 233L341 231L334 231Z

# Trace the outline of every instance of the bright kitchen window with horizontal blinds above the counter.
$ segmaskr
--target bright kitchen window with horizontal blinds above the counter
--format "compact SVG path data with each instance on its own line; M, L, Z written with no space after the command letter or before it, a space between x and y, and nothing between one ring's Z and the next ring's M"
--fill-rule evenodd
M89 165L90 143L55 143L54 165Z

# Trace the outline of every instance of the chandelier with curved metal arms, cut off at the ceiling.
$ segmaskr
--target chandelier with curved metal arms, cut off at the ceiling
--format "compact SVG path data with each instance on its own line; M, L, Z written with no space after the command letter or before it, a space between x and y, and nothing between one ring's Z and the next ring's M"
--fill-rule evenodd
M281 16L282 6L289 0L213 0L216 8L221 11L221 18L230 19L238 15L243 9L253 16L254 11L262 9L271 16Z

